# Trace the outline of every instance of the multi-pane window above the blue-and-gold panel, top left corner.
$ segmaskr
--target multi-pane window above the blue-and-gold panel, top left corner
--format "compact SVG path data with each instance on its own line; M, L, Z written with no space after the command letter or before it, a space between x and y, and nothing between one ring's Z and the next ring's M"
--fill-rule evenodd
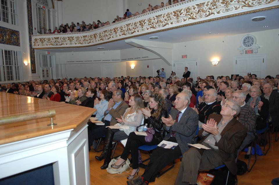
M18 25L17 17L16 0L1 0L0 21Z

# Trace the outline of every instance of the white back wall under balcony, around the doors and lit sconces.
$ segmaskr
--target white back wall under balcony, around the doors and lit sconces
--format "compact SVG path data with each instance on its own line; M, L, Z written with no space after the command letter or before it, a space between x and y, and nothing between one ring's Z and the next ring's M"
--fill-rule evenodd
M279 52L277 43L279 29L267 30L262 32L249 33L257 38L257 44L260 45L258 54L267 54L266 75L275 76L278 74ZM214 39L203 39L197 41L189 41L174 44L172 51L172 60L181 60L181 55L188 55L188 59L199 58L199 73L201 77L206 75L230 75L233 74L234 56L239 56L237 48L240 46L242 37L246 34L239 34L226 37L218 37ZM224 41L224 42L223 42ZM186 47L185 47L186 46ZM105 53L103 53L105 52ZM251 54L254 55L254 54ZM141 59L131 59L137 57L148 57ZM247 55L245 55L247 56ZM220 62L217 66L211 64L213 57L219 57ZM106 59L127 59L126 62L114 62L114 76L152 76L153 66L162 66L165 69L166 76L169 77L172 66L167 65L162 59L150 51L142 48L130 48L115 51L96 51L96 52L70 52L56 53L56 64L66 64L67 77L95 77L101 75L101 64L81 62L80 64L69 64L66 61L86 61L86 60L106 60ZM131 69L131 64L135 65L135 69ZM147 68L149 65L149 68Z

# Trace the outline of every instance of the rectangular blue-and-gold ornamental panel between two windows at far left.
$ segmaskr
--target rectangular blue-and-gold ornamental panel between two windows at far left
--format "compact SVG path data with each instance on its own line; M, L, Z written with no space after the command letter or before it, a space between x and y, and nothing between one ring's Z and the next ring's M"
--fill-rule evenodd
M0 26L0 43L20 46L19 31Z

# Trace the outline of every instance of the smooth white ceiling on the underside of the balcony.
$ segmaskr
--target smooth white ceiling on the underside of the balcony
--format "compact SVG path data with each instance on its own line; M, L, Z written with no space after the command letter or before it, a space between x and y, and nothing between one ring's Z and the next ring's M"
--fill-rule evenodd
M252 21L252 17L266 16L264 21ZM179 43L200 39L208 39L214 37L224 37L228 35L237 35L242 33L250 33L264 30L272 30L279 28L279 11L278 9L268 10L264 12L258 12L253 14L242 15L238 17L232 17L228 19L222 19L219 21L212 21L208 23L202 23L194 26L187 26L174 30L158 32L154 34L135 37L140 40L149 40L151 36L159 37L156 41L167 43ZM268 26L264 28L264 26ZM211 32L211 33L210 33ZM219 33L215 35L215 33ZM182 39L180 41L180 39ZM124 40L115 41L106 44L100 44L98 46L89 46L82 48L63 48L63 49L44 49L51 52L80 52L80 51L100 51L97 47L104 47L103 50L122 50L133 48Z

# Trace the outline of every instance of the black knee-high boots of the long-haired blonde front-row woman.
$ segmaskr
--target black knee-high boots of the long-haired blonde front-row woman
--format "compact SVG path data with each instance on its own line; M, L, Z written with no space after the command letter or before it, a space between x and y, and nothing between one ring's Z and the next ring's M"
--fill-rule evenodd
M105 169L108 167L108 164L110 163L110 155L111 155L111 147L112 147L112 139L114 136L114 132L108 128L105 133L105 141L104 141L104 148L103 152L100 156L95 156L95 158L98 161L101 161L105 159L103 166L101 166L101 169Z

